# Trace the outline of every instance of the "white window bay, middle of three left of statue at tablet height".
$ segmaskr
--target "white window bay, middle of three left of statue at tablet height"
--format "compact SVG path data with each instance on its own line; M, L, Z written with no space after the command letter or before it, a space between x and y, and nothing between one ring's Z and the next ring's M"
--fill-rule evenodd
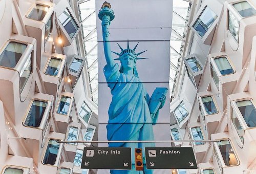
M74 94L62 92L59 100L56 101L54 117L59 133L66 134L70 122L71 109L73 106Z

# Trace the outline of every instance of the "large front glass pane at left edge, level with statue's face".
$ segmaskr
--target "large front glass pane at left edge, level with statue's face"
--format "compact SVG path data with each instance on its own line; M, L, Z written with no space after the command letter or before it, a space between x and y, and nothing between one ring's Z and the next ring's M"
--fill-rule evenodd
M26 48L26 44L20 44L13 41L9 42L3 53L0 55L0 66L14 68Z

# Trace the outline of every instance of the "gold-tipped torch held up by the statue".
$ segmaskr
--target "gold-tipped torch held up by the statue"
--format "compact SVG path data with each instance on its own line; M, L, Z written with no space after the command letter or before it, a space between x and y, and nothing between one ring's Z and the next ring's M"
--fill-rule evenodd
M104 20L105 18L109 18L110 21L112 21L115 18L114 11L111 9L110 3L107 3L106 1L103 3L101 9L99 10L98 17L100 20ZM108 25L104 25L103 32L110 33L108 30ZM104 34L103 33L103 34ZM108 35L105 35L106 37Z

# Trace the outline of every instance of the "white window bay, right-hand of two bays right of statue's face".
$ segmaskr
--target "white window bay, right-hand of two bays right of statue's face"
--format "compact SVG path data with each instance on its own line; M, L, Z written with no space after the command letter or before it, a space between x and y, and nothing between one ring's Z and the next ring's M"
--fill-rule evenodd
M209 54L209 62L211 91L218 96L220 111L224 111L227 96L232 93L237 84L238 73L225 52Z

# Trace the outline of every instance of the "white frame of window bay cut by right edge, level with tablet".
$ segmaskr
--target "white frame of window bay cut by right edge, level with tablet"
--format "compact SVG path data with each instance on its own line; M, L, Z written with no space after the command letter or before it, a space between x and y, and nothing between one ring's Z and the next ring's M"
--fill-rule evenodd
M240 123L240 125L242 126L242 129L243 129L243 137L244 137L244 134L245 134L245 130L248 130L248 129L254 129L254 128L256 128L256 127L249 127L247 124L246 124L246 122L245 122L245 120L244 120L244 117L243 117L243 115L241 114L241 112L239 111L239 108L238 108L238 106L237 106L237 102L239 102L239 101L245 101L245 100L250 100L251 101L251 103L252 103L252 105L255 107L255 103L254 103L254 101L253 101L253 99L252 98L248 98L248 97L246 97L246 98L241 98L241 99L237 99L237 100L233 100L233 101L231 101L231 103L230 103L230 117L229 117L229 119L230 119L230 123L231 123L231 129L233 130L232 131L232 133L234 134L234 132L236 132L235 134L234 134L234 136L235 137L237 137L236 138L236 142L238 143L238 145L239 145L239 147L243 147L243 145L244 145L244 139L243 139L243 141L241 140L241 138L240 138L240 135L238 134L238 130L236 129L236 127L234 126L234 123L233 123L233 121L232 121L232 114L233 114L233 112L235 112L235 114L236 114L236 116L237 116L237 118L238 118L238 121L239 121L239 123ZM256 108L256 107L255 107ZM237 141L237 139L239 139L238 141Z

